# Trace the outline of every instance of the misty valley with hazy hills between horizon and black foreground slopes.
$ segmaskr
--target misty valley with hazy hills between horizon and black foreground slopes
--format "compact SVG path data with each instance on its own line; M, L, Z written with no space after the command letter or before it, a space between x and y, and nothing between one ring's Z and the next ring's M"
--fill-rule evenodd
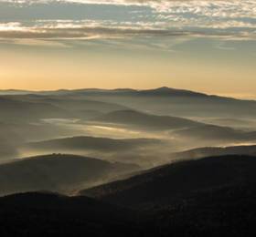
M123 180L133 172L144 172L178 160L216 154L252 154L251 149L244 147L256 141L254 120L242 114L244 108L240 106L248 104L256 108L256 102L208 97L191 91L171 88L34 94L23 91L5 93L0 102L4 111L0 120L0 170L5 166L3 169L13 177L11 180L23 177L21 180L26 184L16 186L16 181L3 179L2 185L6 182L5 186L9 187L9 192L4 193L55 189L73 193L79 187L85 189L110 180ZM234 118L239 110L241 118ZM221 149L239 145L240 149L235 151ZM56 167L50 172L48 155L56 160ZM91 173L90 179L82 176L71 184L53 178L57 173L65 175L66 168L61 164L68 162L67 159L71 162L74 158L73 170L70 167L69 172L77 173L77 156L118 164L123 169L109 169L107 178L93 178ZM31 175L41 184L31 183L29 176L24 176L23 162L29 163L31 170L40 170L38 177ZM52 180L51 185L39 181L40 177Z

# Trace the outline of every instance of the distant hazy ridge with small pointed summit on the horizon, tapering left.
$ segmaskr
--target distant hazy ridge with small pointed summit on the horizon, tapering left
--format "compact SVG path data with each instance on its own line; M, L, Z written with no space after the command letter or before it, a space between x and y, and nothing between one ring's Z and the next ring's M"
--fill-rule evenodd
M158 115L187 118L254 118L256 115L254 100L225 98L176 88L79 89L63 91L63 94L104 102L118 101L128 108Z

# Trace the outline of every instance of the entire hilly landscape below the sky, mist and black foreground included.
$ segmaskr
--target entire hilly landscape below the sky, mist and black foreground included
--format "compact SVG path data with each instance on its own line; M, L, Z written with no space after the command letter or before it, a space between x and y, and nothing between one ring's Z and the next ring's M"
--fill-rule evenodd
M22 230L25 219L43 232L69 222L65 232L97 237L190 236L253 212L255 101L172 88L3 94L0 212Z

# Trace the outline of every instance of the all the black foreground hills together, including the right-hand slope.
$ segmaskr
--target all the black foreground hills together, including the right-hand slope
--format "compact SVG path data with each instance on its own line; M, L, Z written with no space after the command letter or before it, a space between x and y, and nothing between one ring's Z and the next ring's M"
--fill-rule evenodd
M120 187L115 185L119 191L105 189L105 194L112 195L106 198L101 193L103 202L44 193L0 198L0 234L21 237L57 234L92 237L255 236L254 159L210 158L150 171L133 178L137 188L129 179L118 182ZM187 171L186 175L187 167L192 171ZM212 171L208 174L210 167ZM198 175L188 180L196 171ZM148 178L145 180L144 176ZM184 179L178 179L179 176ZM162 183L157 182L159 180ZM122 191L124 184L126 191ZM105 202L114 203L117 197L124 207ZM133 209L127 209L131 205Z

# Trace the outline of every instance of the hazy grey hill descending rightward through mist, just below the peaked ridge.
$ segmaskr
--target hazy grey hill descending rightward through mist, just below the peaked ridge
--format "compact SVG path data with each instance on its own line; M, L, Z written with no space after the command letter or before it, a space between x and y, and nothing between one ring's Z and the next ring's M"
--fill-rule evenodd
M156 116L134 110L114 111L99 118L92 118L92 120L109 124L109 126L158 132L167 131L171 138L187 139L187 144L191 143L193 146L199 146L199 144L216 146L256 140L254 131L210 125L187 118Z

